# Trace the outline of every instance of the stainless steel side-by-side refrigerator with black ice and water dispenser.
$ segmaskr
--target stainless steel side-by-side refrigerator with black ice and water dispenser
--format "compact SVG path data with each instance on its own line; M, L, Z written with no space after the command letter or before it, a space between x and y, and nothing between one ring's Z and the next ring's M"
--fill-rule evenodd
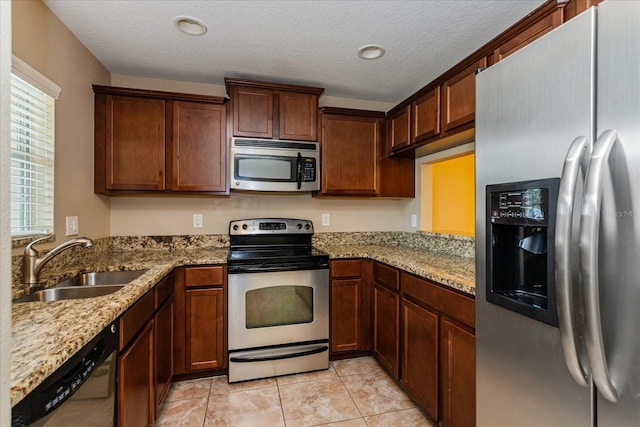
M478 426L640 426L640 2L476 76Z

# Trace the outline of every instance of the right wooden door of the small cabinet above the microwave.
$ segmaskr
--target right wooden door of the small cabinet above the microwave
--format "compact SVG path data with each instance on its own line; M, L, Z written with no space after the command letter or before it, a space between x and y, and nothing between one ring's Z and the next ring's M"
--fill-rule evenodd
M279 92L279 137L317 141L318 97L308 93Z

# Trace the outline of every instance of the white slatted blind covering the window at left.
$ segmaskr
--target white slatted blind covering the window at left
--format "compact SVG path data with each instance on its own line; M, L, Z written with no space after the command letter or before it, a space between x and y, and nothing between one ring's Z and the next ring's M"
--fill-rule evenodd
M37 84L37 82L36 82ZM53 232L55 99L11 75L11 235Z

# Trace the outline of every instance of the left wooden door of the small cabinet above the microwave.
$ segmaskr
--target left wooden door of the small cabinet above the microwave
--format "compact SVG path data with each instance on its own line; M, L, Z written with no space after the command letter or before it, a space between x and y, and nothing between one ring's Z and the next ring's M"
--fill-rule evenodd
M233 87L233 135L273 138L273 91Z

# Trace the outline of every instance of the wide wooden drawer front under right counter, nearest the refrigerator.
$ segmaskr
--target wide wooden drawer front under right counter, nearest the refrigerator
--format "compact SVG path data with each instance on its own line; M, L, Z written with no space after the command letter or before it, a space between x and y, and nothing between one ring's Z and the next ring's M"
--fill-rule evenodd
M402 292L415 301L435 308L446 316L452 317L472 328L476 326L475 300L444 289L428 280L406 273L401 275Z

